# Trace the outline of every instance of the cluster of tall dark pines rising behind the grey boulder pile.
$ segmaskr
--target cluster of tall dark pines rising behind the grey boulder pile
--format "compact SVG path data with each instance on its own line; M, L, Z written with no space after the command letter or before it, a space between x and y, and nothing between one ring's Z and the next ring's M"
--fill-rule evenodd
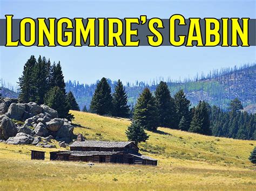
M65 90L64 75L60 62L51 64L43 56L38 59L31 55L26 61L22 76L19 77L19 102L46 104L58 111L60 118L73 119L69 110L79 110L71 91Z

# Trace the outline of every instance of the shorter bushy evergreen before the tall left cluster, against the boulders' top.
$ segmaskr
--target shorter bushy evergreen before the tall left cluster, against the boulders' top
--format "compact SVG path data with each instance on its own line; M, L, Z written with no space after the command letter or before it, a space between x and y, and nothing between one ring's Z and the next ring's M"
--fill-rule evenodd
M73 119L73 115L69 114L69 103L66 99L63 90L59 87L51 88L45 95L44 103L50 108L58 111L59 118Z

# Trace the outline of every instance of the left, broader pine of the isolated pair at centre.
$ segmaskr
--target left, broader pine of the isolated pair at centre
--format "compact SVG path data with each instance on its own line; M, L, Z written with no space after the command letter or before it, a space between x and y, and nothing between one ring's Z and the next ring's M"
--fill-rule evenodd
M111 115L112 95L105 77L97 84L95 93L92 96L90 111L99 115Z

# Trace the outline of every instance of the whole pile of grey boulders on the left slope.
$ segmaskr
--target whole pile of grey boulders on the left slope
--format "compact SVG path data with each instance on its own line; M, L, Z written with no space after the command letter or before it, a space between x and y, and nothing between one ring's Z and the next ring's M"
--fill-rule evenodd
M70 143L75 138L73 129L71 122L58 118L58 112L47 105L39 106L33 102L18 103L11 98L0 100L1 142L50 148L54 146L49 142L56 139L64 147L64 144ZM44 143L41 143L42 141Z

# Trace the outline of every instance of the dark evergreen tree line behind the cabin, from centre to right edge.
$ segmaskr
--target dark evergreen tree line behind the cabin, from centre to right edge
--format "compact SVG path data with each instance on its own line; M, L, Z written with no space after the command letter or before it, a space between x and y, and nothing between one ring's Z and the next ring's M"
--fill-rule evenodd
M255 115L241 112L241 102L235 98L228 111L211 107L205 101L191 107L183 90L171 96L166 82L161 81L154 91L145 88L139 95L133 111L129 111L125 88L118 80L111 94L111 87L103 78L92 97L90 111L99 115L127 117L132 115L132 124L126 131L129 140L146 141L144 130L157 131L158 126L179 129L203 135L255 139Z

